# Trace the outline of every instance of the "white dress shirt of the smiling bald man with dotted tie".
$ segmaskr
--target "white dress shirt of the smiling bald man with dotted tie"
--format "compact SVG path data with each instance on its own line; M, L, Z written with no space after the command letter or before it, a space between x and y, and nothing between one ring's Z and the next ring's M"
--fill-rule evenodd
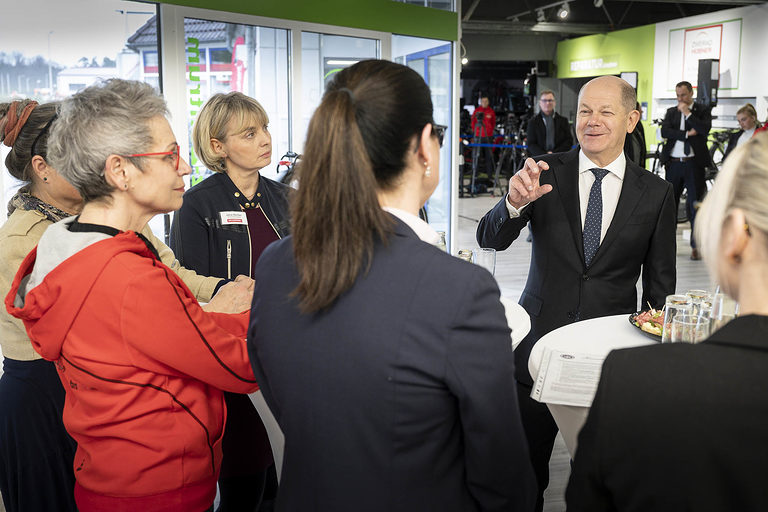
M587 158L587 155L584 154L583 150L579 150L579 207L581 210L582 231L584 230L584 221L587 217L589 192L592 190L592 184L595 182L595 175L590 169L595 168L609 171L600 184L603 192L603 218L600 225L600 242L602 242L603 238L605 238L605 233L608 231L608 227L613 220L613 214L616 213L616 206L619 204L621 186L624 182L624 172L627 168L627 157L624 156L624 152L622 151L616 160L605 167L600 167ZM505 197L504 204L507 206L509 217L514 219L519 217L523 209L531 203L521 206L520 208L515 208L509 204L509 201Z

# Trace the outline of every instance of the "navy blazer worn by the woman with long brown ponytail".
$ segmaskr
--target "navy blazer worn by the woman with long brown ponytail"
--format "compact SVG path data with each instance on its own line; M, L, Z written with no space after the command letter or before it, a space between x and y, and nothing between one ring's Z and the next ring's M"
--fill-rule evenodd
M491 274L394 220L370 270L327 311L301 314L292 242L270 245L256 265L248 331L285 434L276 510L532 510Z

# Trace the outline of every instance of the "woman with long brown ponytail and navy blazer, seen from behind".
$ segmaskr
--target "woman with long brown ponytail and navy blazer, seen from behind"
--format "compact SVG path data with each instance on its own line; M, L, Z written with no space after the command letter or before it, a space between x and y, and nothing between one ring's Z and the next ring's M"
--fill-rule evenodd
M381 60L340 71L312 117L248 332L285 434L278 511L533 506L498 287L418 217L443 130L422 78Z

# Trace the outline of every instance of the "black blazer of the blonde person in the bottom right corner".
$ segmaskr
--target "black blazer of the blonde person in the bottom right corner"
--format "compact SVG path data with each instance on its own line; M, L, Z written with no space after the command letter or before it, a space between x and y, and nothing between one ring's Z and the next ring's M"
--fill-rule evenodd
M579 434L568 512L768 510L768 317L616 350Z

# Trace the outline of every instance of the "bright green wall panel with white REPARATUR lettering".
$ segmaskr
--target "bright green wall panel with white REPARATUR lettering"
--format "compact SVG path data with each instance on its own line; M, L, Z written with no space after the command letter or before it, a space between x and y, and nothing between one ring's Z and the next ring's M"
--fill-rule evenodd
M637 71L637 101L653 99L656 25L568 39L557 44L557 78L584 78ZM646 142L656 140L652 119L643 122Z

